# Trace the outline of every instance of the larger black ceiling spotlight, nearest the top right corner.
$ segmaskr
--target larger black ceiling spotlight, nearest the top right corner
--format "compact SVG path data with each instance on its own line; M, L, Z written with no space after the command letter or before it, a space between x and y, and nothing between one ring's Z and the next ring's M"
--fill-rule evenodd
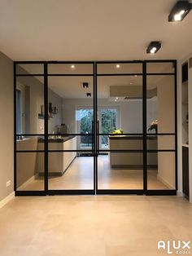
M192 8L192 3L189 1L178 1L172 11L168 15L168 21L181 21L185 18Z

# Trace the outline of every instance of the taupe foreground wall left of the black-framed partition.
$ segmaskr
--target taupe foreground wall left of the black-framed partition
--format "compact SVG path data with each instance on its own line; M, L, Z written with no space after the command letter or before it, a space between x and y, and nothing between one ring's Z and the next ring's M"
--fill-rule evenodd
M0 52L0 201L13 192L13 62ZM11 186L6 183L11 180Z

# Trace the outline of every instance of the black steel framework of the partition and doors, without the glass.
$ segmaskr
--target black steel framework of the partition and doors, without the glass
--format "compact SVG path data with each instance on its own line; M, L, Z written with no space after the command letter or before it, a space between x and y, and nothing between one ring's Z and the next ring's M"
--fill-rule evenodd
M147 63L164 63L164 62L172 62L174 66L174 73L146 73L146 64ZM101 135L98 133L97 128L97 111L98 111L98 72L97 66L98 64L135 64L141 63L142 64L142 136L143 136L143 189L98 189L98 154L101 152L98 145L98 136ZM43 74L28 74L22 75L16 73L16 65L17 64L43 64L44 66L44 73ZM94 127L93 127L93 138L94 144L92 147L92 153L94 156L94 188L93 189L72 189L72 190L50 190L49 189L49 180L48 180L48 156L49 152L51 152L48 148L48 65L49 64L92 64L93 66L93 77L94 81ZM71 76L74 74L71 74ZM85 76L89 76L89 74L82 74ZM111 75L111 74L109 74ZM114 74L116 75L116 74ZM123 75L123 74L120 74ZM125 74L125 75L135 75L133 74ZM138 74L141 76L141 73ZM175 150L158 150L158 152L175 152L175 184L176 189L172 190L148 190L147 189L147 152L157 152L155 150L147 150L146 147L146 139L147 139L147 131L146 131L146 76L148 75L172 75L175 78ZM45 138L45 145L44 151L18 151L16 149L16 77L34 77L34 76L43 76L44 77L44 105L45 105L45 119L44 119L44 138ZM64 74L55 74L55 76L64 76ZM25 136L38 136L39 134L25 134ZM78 135L78 134L73 134ZM173 135L173 134L157 134L157 135ZM74 150L72 152L85 152L86 150ZM88 150L90 152L90 150ZM107 150L109 152L109 150ZM16 154L19 152L44 152L44 166L45 166L45 178L44 178L44 190L42 191L18 191L17 190L17 171L16 171ZM55 151L61 152L61 151ZM65 151L66 152L66 151ZM120 151L122 152L122 151ZM124 152L124 151L123 151ZM125 152L133 152L133 151L125 151ZM14 62L14 189L15 189L15 196L46 196L46 195L94 195L94 194L116 194L116 195L124 195L124 194L137 194L137 195L176 195L177 194L177 60L135 60L135 61L15 61Z

